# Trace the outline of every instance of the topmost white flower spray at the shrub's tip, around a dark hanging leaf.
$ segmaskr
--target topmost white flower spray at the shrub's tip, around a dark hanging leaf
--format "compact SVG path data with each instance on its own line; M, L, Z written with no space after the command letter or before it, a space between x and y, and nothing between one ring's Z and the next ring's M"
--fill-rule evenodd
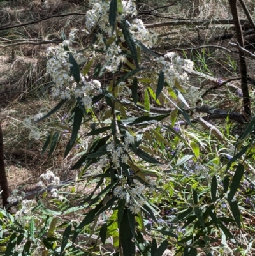
M87 11L86 14L86 27L87 31L91 31L92 27L98 25L99 32L96 34L98 38L98 45L94 45L97 49L102 49L106 52L106 70L108 72L115 73L119 69L121 63L126 63L127 58L125 54L122 54L121 43L124 43L125 39L122 36L121 30L117 27L116 31L113 31L113 37L111 42L108 41L108 48L106 48L104 38L112 36L112 27L109 24L109 8L110 1L101 0L91 0L89 1L89 6L92 7L91 10ZM126 15L131 17L137 14L135 1L119 1L118 2L118 15L117 22L124 20ZM136 40L142 41L148 47L152 47L157 40L155 33L150 33L148 29L145 28L142 20L135 19L129 27L130 33L136 38ZM117 37L120 37L120 41L117 44ZM105 39L106 40L106 39Z

